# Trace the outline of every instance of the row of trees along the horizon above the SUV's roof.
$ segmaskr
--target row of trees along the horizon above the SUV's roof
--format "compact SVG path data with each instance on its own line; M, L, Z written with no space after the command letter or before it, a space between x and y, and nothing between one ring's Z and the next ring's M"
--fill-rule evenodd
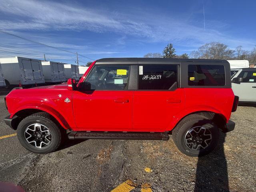
M167 44L162 53L147 53L146 58L195 58L195 59L226 59L226 60L249 60L250 63L256 62L256 46L251 50L244 50L242 46L237 46L235 50L228 48L220 42L206 43L192 51L177 55L173 45Z

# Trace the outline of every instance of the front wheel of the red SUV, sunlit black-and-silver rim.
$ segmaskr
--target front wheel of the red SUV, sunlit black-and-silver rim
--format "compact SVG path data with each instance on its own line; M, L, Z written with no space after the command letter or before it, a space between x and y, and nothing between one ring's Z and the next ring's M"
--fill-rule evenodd
M60 128L46 112L24 118L18 125L17 136L24 148L40 154L54 152L63 138Z

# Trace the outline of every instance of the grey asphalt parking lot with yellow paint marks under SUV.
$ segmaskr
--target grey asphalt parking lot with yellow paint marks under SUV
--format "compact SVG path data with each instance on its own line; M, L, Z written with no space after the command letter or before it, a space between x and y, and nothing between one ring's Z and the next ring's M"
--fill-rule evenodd
M256 191L255 107L239 106L231 117L235 130L200 158L179 152L171 137L69 141L51 154L33 154L12 135L7 115L1 96L0 181L26 192Z

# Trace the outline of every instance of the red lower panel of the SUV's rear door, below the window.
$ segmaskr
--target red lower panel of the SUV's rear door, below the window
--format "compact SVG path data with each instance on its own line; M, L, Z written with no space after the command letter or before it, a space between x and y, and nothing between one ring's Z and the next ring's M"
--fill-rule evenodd
M184 89L174 91L135 91L133 104L134 131L168 130L172 118L184 109Z

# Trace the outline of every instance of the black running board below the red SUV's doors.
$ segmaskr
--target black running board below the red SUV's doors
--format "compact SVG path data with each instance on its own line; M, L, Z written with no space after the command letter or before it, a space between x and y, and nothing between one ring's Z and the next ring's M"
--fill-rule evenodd
M131 140L164 140L169 136L166 132L86 132L72 131L69 139L131 139Z

